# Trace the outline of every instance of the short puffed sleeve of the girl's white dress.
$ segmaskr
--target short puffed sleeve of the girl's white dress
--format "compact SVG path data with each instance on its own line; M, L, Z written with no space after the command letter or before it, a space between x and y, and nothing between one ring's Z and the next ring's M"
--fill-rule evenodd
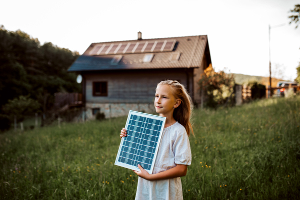
M181 125L176 130L172 151L175 157L175 164L178 165L190 165L191 164L191 152L188 136L184 127Z

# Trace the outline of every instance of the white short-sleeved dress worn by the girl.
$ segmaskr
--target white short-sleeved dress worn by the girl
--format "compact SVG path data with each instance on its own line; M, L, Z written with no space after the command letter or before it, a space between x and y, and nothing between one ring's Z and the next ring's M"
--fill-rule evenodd
M152 174L169 170L176 164L191 164L188 136L178 122L163 129ZM180 177L159 181L138 177L135 200L183 200Z

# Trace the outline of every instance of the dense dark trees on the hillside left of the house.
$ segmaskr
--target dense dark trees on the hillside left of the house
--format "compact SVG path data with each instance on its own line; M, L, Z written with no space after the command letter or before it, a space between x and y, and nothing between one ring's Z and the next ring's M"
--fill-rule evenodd
M45 115L55 92L79 92L76 74L67 72L78 56L51 42L41 45L23 31L0 26L0 118L10 117L3 106L19 96L38 102L38 112Z

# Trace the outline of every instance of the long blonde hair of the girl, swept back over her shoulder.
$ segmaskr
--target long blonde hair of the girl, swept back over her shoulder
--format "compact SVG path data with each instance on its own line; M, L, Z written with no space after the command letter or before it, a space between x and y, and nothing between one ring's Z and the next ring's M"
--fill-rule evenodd
M170 86L174 97L181 101L180 105L174 109L173 118L185 128L188 136L189 136L189 132L191 132L192 135L194 135L190 123L192 101L184 86L178 83L178 81L171 81L171 80L161 81L160 83L157 84L157 86L158 85Z

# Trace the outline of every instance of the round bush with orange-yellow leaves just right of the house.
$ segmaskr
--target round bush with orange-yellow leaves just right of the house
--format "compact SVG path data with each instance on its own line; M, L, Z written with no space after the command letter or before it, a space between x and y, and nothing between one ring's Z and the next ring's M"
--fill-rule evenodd
M223 70L215 72L209 65L198 81L201 90L206 96L206 105L216 108L217 105L224 105L230 101L233 94L233 75L226 74Z

